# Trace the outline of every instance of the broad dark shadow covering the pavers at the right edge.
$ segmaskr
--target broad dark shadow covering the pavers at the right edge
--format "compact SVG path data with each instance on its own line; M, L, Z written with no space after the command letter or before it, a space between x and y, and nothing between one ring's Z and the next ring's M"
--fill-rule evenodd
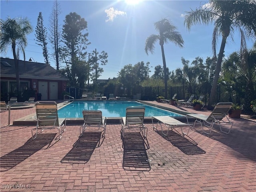
M196 126L196 128L193 129L196 132L221 142L236 152L239 152L240 154L234 153L238 158L246 157L256 162L256 122L250 122L242 118L236 121L240 121L242 125L236 127L233 126L229 134L220 132L220 127L218 125L214 125L210 135L205 134L202 131L201 126ZM204 127L204 129L205 132L210 132L206 127ZM224 127L222 127L222 130L226 131Z

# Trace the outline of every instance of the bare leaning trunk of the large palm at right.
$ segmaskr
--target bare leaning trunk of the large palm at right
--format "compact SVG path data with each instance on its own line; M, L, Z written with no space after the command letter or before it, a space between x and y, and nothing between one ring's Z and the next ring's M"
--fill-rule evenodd
M219 52L219 56L218 56L218 62L217 62L217 65L216 65L215 76L214 76L214 80L213 80L213 83L212 83L212 90L211 90L211 94L210 94L210 98L209 98L208 106L207 106L208 109L210 109L212 107L213 98L214 98L214 95L215 95L215 92L216 92L218 79L219 79L219 76L220 76L222 58L223 58L224 49L225 49L225 45L226 45L226 38L227 37L222 36L220 52Z

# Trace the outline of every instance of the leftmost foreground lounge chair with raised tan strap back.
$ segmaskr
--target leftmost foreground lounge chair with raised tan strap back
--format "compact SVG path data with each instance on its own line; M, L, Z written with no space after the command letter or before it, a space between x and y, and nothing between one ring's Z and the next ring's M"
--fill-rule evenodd
M36 118L37 124L36 128L31 130L32 139L35 139L38 134L38 130L41 132L46 129L58 129L59 140L62 137L62 132L66 128L66 118L58 118L57 103L55 101L40 101L36 102ZM61 127L61 130L60 130ZM36 135L34 136L33 130L36 130Z

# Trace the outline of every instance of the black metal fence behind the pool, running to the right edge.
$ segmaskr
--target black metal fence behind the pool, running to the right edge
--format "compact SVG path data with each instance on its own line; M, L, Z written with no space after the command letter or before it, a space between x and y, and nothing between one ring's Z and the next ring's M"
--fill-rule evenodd
M168 87L167 99L172 98L177 93L176 99L188 99L191 94L195 94L195 98L204 95L203 102L207 103L210 92L211 84L204 83L193 86L170 86ZM143 87L141 93L142 100L155 100L157 96L164 96L164 87ZM256 99L256 83L253 84L218 84L214 94L215 106L218 102L233 102L242 106L247 102Z

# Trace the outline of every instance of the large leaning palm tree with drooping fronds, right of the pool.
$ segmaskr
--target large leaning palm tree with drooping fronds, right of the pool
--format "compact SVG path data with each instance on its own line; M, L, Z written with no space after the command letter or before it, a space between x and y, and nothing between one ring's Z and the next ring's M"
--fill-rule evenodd
M249 10L249 14L248 14ZM233 36L235 29L241 35L241 49L246 46L245 37L255 37L255 18L256 4L255 1L233 1L233 0L210 0L209 4L199 9L186 12L184 25L190 30L193 24L210 24L214 22L214 31L212 38L212 48L216 58L216 40L222 35L222 42L218 54L214 81L208 102L208 108L211 108L214 94L216 91L218 78L220 75L221 63L224 54L224 48L228 36Z

